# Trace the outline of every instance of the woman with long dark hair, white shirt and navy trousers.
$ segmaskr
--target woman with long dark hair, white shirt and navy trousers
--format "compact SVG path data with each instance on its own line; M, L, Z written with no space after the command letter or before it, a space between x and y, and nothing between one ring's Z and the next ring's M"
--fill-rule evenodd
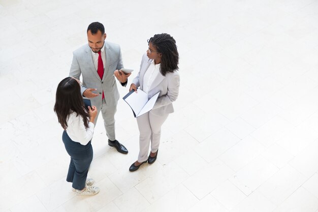
M73 183L77 195L94 195L98 187L91 186L93 179L87 179L93 149L90 140L94 132L94 119L97 115L95 106L85 109L81 95L80 81L67 77L56 89L54 112L59 124L64 129L62 140L71 157L67 181Z

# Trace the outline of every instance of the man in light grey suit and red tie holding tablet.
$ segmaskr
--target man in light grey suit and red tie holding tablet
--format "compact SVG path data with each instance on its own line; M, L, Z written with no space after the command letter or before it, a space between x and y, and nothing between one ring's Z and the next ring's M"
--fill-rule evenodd
M87 28L88 44L73 52L70 76L79 79L82 74L81 93L89 99L91 105L102 112L108 144L119 153L127 154L128 150L115 138L115 113L119 93L115 77L122 86L126 86L130 74L120 71L123 68L121 51L118 44L105 41L106 33L102 23L93 22ZM119 70L119 71L118 71ZM115 77L114 77L115 76Z

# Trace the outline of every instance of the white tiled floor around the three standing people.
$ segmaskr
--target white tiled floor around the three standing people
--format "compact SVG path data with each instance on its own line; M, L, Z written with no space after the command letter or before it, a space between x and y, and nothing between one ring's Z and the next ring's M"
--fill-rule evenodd
M0 212L318 211L318 0L0 0ZM57 83L90 22L138 73L147 39L169 33L180 95L158 160L137 172L138 127L119 100L117 139L99 118L76 196L53 113ZM119 87L121 97L128 88Z

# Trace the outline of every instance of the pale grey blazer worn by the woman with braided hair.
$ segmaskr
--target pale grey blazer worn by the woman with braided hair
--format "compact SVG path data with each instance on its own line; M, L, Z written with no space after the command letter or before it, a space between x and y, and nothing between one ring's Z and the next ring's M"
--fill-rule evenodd
M149 59L147 54L144 54L141 60L140 71L132 83L140 89L143 89L143 78L150 66L152 59ZM160 92L157 101L155 102L151 112L162 115L165 113L174 112L172 102L176 101L179 95L180 76L178 71L167 73L166 76L158 74L149 87L148 98Z

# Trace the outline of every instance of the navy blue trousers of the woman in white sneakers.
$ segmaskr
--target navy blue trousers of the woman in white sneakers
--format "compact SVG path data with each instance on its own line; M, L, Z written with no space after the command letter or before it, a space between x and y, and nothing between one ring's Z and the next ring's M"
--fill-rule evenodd
M73 183L74 189L82 190L85 187L88 169L93 160L93 148L90 141L86 145L72 141L66 131L63 132L62 140L71 157L66 181Z

